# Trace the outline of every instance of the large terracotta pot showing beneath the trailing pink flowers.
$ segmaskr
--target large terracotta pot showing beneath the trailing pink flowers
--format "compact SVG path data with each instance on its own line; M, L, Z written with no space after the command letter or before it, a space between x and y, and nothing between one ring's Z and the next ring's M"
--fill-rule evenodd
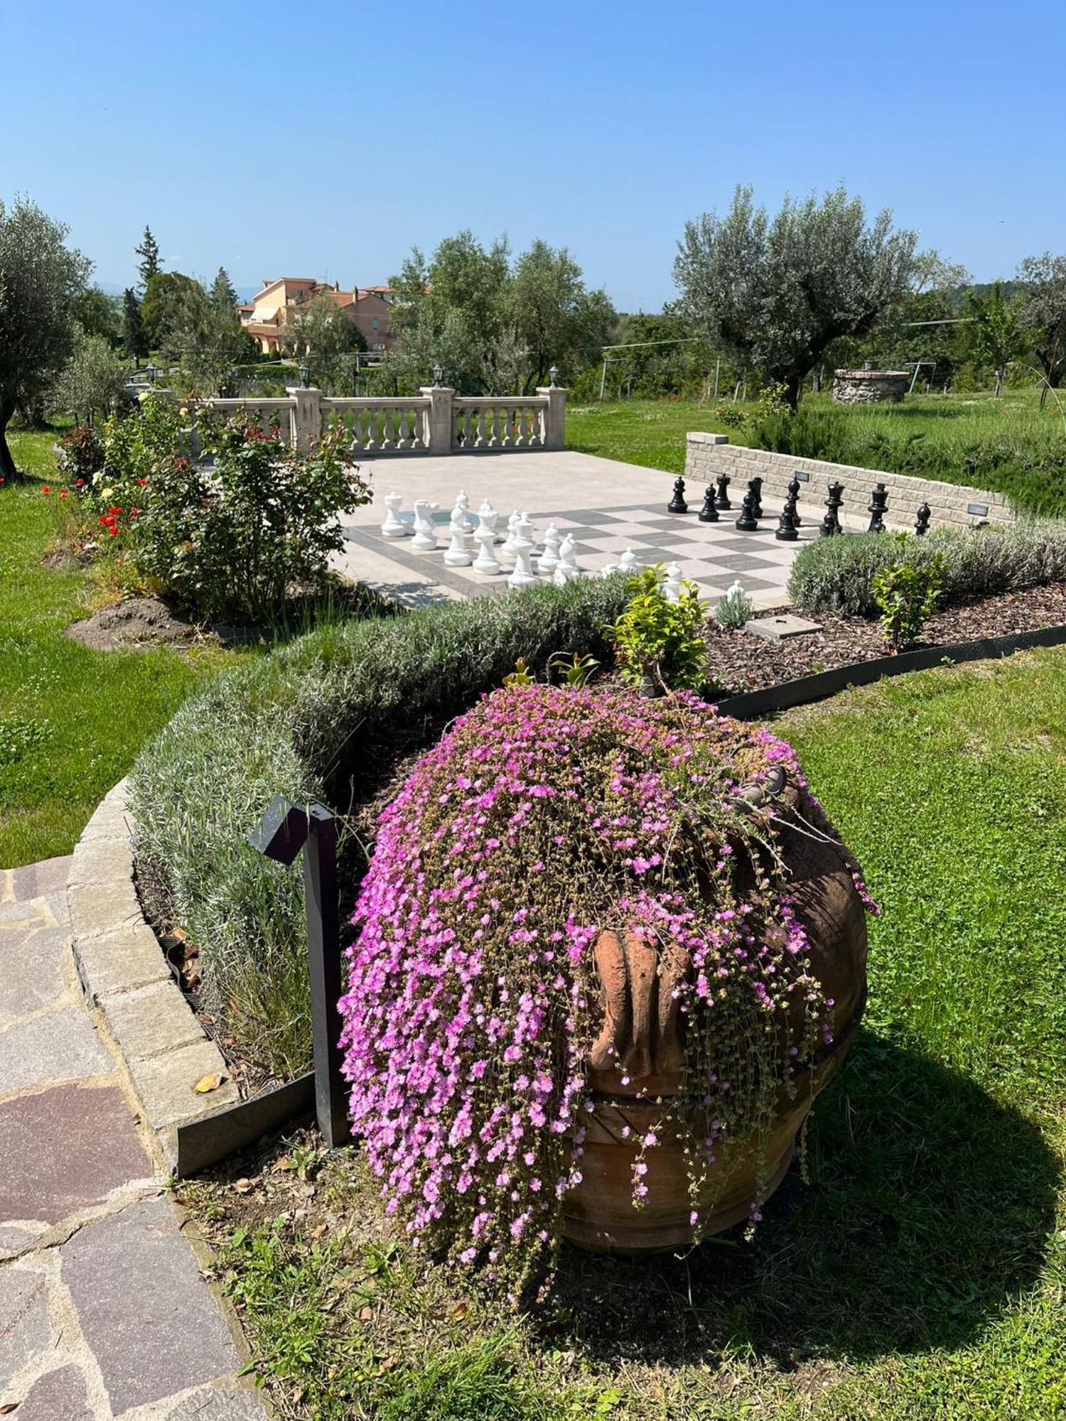
M777 804L780 817L799 810L806 821L812 818L813 806L793 786L783 787ZM803 1118L844 1059L866 1005L866 909L846 853L809 831L790 827L782 827L780 847L797 917L810 939L812 971L834 1002L833 1043L797 1080L793 1094L783 1090L779 1094L777 1117L765 1152L756 1148L756 1141L746 1150L738 1145L725 1179L721 1171L728 1167L712 1165L704 1194L706 1208L701 1208L704 1233L721 1232L748 1218L760 1162L769 1175L765 1194L772 1194L785 1178ZM601 932L596 963L603 985L604 1020L590 1053L594 1108L588 1115L581 1184L563 1201L563 1233L573 1243L598 1252L684 1246L692 1241L694 1229L678 1131L661 1124L662 1106L635 1097L644 1091L665 1100L681 1090L685 1019L677 1012L671 989L687 976L688 956L675 949L659 958L632 936L620 941L613 932ZM792 1025L793 1033L799 1033L799 1013ZM623 1076L628 1077L627 1086ZM691 1117L691 1123L699 1130L698 1118ZM628 1137L623 1135L625 1125ZM652 1127L658 1127L659 1144L644 1155L648 1195L644 1208L637 1209L632 1205L637 1141Z

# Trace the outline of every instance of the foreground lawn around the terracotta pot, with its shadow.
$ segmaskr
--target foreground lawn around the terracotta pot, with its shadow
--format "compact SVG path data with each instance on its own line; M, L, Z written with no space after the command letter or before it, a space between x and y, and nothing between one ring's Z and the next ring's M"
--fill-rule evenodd
M752 1246L566 1249L520 1320L411 1258L358 1155L314 1135L182 1185L280 1414L1066 1415L1065 702L1056 649L782 722L884 911L813 1184L786 1182Z

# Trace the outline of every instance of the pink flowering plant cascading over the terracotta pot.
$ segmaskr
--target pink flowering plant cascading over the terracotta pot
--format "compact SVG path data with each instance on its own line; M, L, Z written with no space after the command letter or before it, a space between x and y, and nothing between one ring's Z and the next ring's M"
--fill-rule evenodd
M789 745L689 692L537 684L485 696L418 762L379 820L341 1000L352 1130L415 1245L507 1289L550 1263L593 1108L603 929L689 956L662 1123L687 1131L694 1201L716 1157L768 1133L833 1005L773 810L739 793L775 766L803 784ZM645 1174L638 1158L637 1206Z

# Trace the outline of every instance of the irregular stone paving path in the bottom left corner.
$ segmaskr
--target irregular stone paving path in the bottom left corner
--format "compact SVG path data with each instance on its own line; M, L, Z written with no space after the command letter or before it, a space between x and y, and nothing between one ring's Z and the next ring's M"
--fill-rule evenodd
M267 1421L85 1007L68 867L0 870L0 1415Z

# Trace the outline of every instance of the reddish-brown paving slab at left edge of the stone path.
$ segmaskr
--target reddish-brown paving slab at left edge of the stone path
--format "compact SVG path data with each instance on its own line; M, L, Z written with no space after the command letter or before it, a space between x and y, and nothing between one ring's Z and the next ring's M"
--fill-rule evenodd
M117 1086L53 1086L0 1104L0 1221L58 1223L152 1178Z

